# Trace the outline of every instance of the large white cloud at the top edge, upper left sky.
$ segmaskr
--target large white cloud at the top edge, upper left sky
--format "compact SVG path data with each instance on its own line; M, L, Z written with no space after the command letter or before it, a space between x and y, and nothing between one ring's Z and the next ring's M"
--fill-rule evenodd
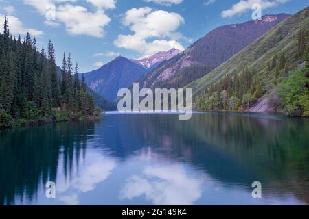
M93 5L95 10L89 10L77 3L76 0L23 0L23 3L36 8L40 14L46 16L50 10L55 10L55 19L45 20L45 25L57 27L63 23L69 34L87 35L93 37L104 36L104 27L110 23L111 18L105 10L115 8L116 0L84 0Z

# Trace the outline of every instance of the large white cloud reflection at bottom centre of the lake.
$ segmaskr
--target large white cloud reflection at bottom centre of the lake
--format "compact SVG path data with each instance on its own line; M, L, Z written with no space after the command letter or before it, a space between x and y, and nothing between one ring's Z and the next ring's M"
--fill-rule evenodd
M178 165L148 166L141 176L128 179L120 198L145 196L155 205L193 205L202 193L202 180L187 176Z

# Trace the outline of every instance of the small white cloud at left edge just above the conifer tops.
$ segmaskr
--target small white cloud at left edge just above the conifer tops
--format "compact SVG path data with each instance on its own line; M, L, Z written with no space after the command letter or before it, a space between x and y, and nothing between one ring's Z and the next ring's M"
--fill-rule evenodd
M4 17L5 15L0 14L0 22L4 23ZM43 35L43 31L39 31L37 29L32 29L32 28L27 28L23 25L21 21L19 21L19 18L16 16L7 16L8 22L9 22L9 28L10 28L10 33L13 34L14 36L17 36L19 34L27 34L29 32L32 36L41 36Z

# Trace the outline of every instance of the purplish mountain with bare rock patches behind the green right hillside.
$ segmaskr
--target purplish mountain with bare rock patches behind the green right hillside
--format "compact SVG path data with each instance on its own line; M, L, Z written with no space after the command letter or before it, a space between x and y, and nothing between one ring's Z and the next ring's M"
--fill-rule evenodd
M266 15L260 21L225 25L210 31L183 53L163 62L140 80L144 88L180 88L225 62L290 15Z

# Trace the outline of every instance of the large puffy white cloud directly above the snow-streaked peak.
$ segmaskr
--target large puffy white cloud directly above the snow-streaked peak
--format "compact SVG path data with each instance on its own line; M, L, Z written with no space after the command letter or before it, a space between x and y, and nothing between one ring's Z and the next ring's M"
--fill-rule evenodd
M134 34L119 35L114 44L143 55L172 48L183 50L183 46L176 41L183 38L182 34L176 32L183 23L184 18L174 12L153 11L149 7L132 8L124 15L122 24Z

